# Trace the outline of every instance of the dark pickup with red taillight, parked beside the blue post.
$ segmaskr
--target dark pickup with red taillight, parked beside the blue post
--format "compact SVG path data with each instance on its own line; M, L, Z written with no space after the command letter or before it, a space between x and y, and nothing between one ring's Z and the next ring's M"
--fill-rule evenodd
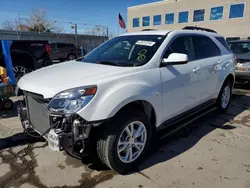
M48 41L13 40L10 53L17 80L24 74L52 64L49 57L51 48ZM1 45L0 66L5 67Z

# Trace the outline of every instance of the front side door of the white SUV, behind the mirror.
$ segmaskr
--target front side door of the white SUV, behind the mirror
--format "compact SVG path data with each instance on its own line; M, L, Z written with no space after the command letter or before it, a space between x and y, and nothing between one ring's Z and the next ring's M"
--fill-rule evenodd
M167 47L163 58L171 53L187 54L189 62L183 65L161 67L164 120L168 120L197 106L200 93L198 65L194 60L194 50L190 36L178 36Z

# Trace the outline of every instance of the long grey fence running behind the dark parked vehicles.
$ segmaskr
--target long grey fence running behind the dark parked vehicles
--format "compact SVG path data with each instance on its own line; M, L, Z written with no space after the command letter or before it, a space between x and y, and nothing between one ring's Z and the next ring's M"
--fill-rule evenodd
M77 43L77 46L84 46L87 52L93 50L106 40L107 36L95 35L74 35L74 34L56 34L56 33L38 33L0 30L0 40L48 40L49 42L70 42Z

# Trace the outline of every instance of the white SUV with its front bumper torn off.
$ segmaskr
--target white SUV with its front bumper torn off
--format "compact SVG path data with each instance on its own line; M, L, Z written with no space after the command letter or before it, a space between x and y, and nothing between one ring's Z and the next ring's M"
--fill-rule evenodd
M227 109L235 68L226 45L215 32L190 28L115 37L84 59L22 77L23 128L78 158L96 147L105 165L127 172L156 131L212 105Z

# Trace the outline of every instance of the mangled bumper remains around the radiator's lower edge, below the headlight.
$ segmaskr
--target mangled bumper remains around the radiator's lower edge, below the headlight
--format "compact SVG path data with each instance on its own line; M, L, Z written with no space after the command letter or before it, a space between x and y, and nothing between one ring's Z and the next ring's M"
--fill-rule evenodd
M29 111L26 106L18 107L18 115L22 127L26 133L32 135L32 131L39 133L48 141L50 149L54 151L65 150L68 154L82 158L88 154L90 144L90 130L101 122L86 122L77 114L67 116L48 115L50 125L45 132L31 124Z

